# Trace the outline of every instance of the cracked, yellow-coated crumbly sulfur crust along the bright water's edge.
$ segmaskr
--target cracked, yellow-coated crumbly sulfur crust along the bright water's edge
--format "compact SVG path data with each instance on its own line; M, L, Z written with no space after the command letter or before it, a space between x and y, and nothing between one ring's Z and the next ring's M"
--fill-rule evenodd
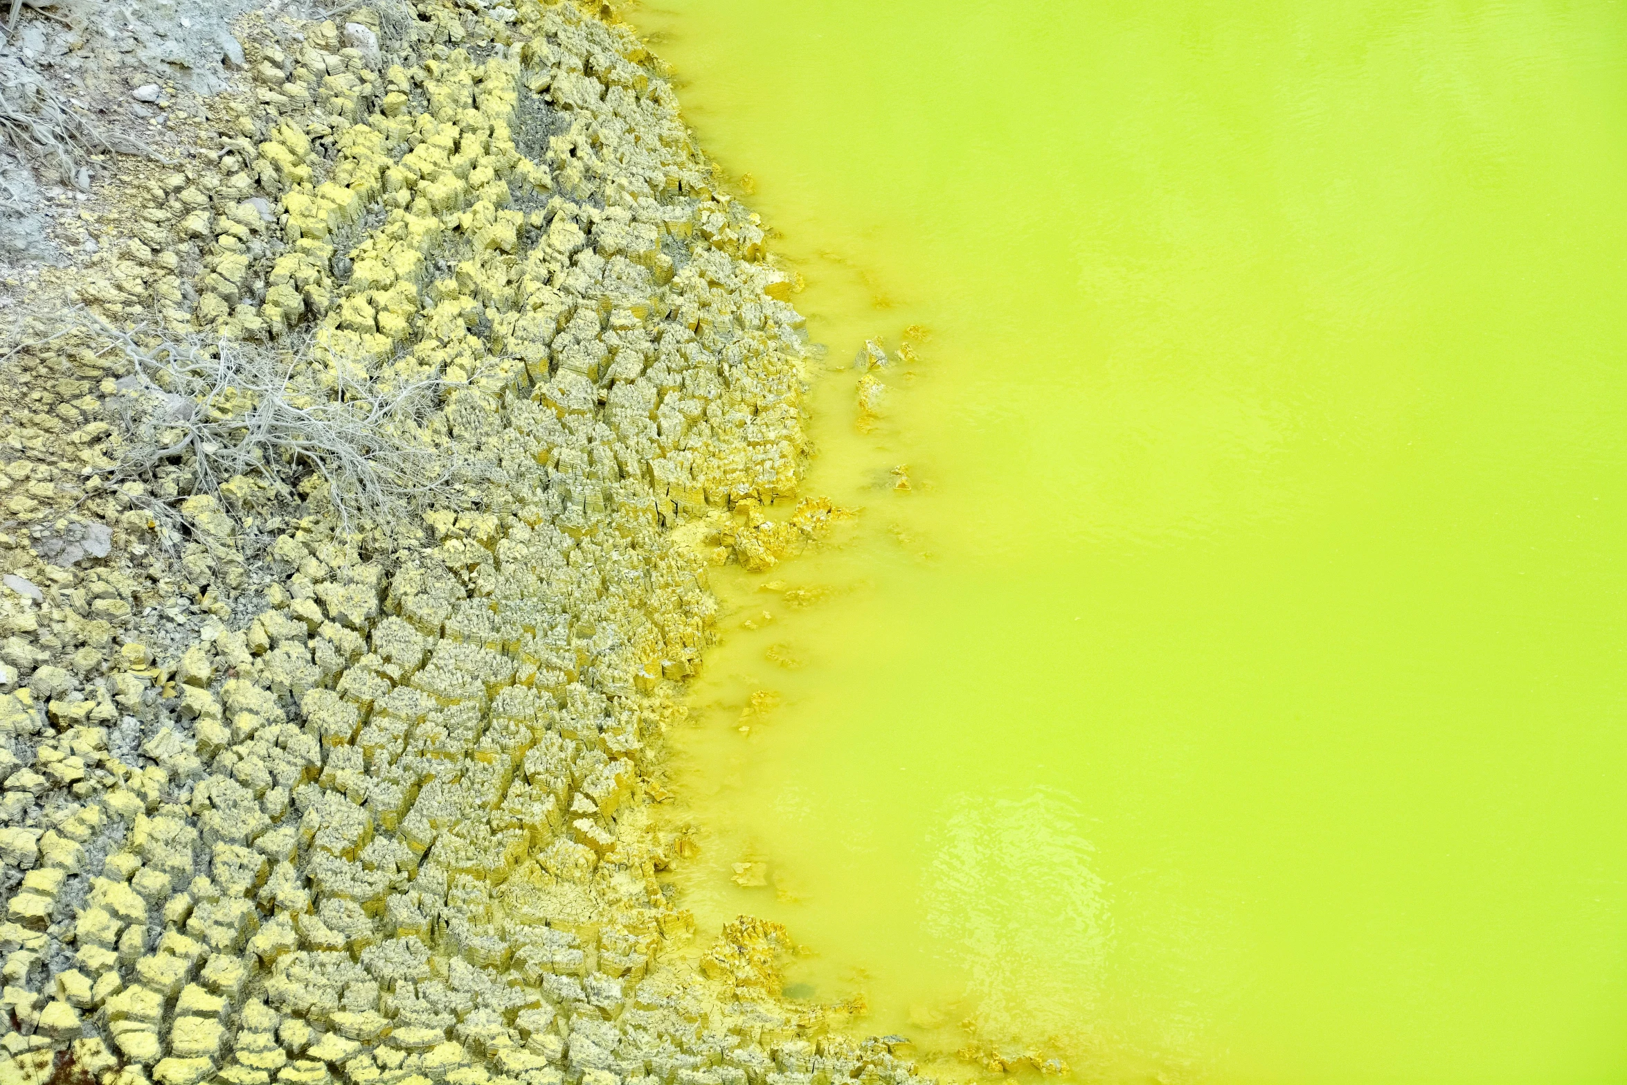
M831 514L760 511L799 483L805 361L765 231L625 28L412 16L262 18L210 159L132 184L73 286L117 325L301 343L312 395L436 381L431 429L485 470L417 543L321 486L277 519L252 477L107 485L119 353L11 358L44 395L0 434L0 1085L909 1080L779 999L776 926L690 963L656 877L706 566Z

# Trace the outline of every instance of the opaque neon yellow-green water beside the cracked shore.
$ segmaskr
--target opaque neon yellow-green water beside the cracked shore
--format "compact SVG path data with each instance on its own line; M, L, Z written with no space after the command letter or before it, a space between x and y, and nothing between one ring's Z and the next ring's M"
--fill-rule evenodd
M631 18L807 280L809 490L864 509L714 577L701 942L786 922L792 994L927 1056L1627 1080L1627 10Z

